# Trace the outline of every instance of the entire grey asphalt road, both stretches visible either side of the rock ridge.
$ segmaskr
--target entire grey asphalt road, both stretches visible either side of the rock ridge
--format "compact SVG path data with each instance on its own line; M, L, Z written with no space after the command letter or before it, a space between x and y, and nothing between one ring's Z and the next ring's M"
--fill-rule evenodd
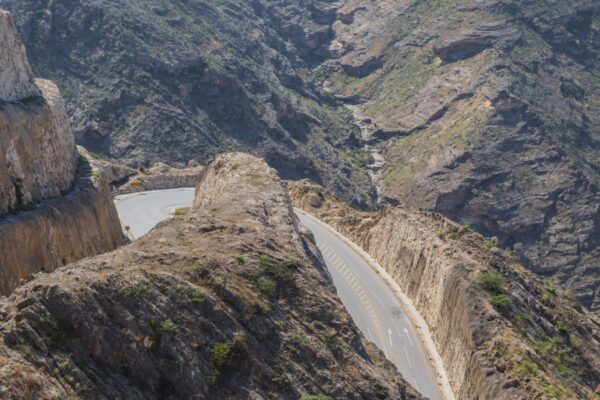
M179 207L189 207L193 188L117 196L121 223L137 239ZM392 289L369 263L318 219L298 214L315 235L340 299L363 334L396 365L423 396L441 399L436 379L416 331Z

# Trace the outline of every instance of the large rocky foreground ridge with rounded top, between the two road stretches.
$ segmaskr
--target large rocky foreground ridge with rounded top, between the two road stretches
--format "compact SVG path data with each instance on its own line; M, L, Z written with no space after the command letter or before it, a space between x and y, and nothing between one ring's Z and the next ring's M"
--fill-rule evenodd
M0 302L7 399L418 399L344 311L274 170L204 170L190 213Z

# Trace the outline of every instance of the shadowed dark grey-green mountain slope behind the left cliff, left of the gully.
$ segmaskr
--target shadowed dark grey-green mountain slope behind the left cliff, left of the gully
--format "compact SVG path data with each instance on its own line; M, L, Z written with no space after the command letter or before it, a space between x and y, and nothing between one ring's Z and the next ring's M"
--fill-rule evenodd
M349 113L309 82L334 1L1 0L80 144L134 165L244 149L356 203L374 192Z

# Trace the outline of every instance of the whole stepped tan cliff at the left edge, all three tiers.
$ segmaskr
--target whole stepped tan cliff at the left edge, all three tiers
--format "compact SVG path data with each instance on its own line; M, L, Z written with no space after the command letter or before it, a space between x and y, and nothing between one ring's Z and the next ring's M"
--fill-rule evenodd
M107 177L79 154L57 87L35 80L0 11L0 295L124 243Z

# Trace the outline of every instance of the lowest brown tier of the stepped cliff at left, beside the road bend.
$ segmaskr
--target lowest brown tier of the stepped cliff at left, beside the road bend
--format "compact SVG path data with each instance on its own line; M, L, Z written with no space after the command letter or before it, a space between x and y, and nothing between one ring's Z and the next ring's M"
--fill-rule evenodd
M105 175L82 158L73 189L0 220L0 295L38 272L50 272L125 243Z

